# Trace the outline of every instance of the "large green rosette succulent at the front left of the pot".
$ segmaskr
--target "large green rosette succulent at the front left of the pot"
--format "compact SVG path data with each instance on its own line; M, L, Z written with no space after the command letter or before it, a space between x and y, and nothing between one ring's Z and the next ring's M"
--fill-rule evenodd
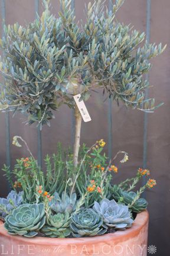
M36 236L45 224L44 204L21 204L5 218L5 229L11 235Z

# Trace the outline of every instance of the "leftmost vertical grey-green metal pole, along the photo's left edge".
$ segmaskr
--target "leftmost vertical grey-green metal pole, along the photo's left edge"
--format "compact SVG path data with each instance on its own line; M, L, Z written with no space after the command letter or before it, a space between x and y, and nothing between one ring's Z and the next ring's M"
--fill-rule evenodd
M1 17L2 17L2 37L5 36L4 33L4 25L5 25L5 0L1 0ZM5 90L5 88L4 88ZM11 147L10 147L10 124L9 124L9 111L5 112L5 145L6 145L6 165L11 167ZM10 190L10 186L8 184L8 192Z

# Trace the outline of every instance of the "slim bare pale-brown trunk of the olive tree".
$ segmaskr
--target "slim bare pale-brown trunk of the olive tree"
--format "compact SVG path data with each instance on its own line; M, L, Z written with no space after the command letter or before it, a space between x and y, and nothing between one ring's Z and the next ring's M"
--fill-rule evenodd
M81 121L82 117L77 105L75 106L74 115L76 119L75 124L75 137L74 137L74 148L73 148L73 163L74 167L78 165L79 149L80 149L80 133L81 133Z

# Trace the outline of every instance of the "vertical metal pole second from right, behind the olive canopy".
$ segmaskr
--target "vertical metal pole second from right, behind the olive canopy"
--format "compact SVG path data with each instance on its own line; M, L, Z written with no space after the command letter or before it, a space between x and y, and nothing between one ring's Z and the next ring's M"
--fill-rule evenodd
M109 0L109 11L112 11L113 0ZM108 105L108 155L109 160L112 158L112 145L113 145L113 136L112 136L112 98L109 98Z

